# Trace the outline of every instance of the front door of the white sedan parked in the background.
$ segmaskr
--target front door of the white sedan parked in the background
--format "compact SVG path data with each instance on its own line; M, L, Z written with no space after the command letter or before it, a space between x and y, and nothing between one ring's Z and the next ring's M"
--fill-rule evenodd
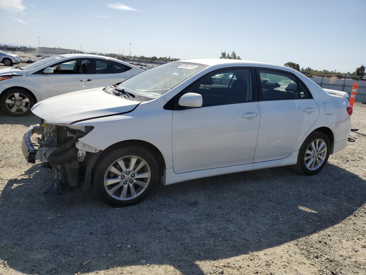
M52 69L53 74L40 73L42 100L93 87L93 74L89 59L68 60L52 65Z

